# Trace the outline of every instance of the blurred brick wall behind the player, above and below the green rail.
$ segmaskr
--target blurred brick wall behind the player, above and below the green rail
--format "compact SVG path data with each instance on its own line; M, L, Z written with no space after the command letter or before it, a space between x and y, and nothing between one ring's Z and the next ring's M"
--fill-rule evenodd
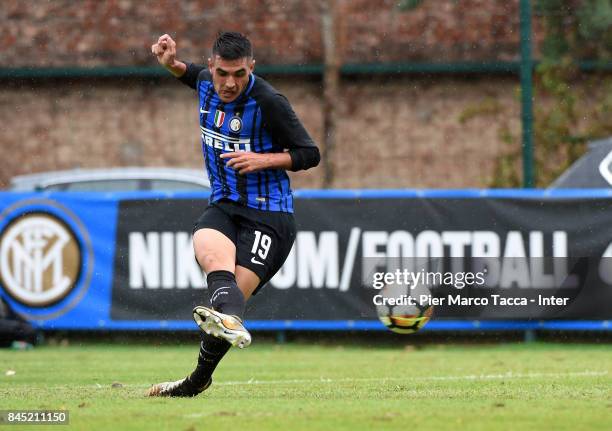
M518 0L338 0L344 62L512 60ZM247 33L258 64L320 63L319 2L4 0L2 67L153 66L171 33L198 61L221 29ZM536 19L536 40L540 38ZM321 142L321 83L274 79ZM517 81L381 76L344 80L335 187L483 187L519 135ZM477 115L466 115L466 113ZM16 174L104 166L201 167L195 101L172 79L3 82L0 186ZM10 155L6 157L4 155ZM319 187L315 169L293 175Z

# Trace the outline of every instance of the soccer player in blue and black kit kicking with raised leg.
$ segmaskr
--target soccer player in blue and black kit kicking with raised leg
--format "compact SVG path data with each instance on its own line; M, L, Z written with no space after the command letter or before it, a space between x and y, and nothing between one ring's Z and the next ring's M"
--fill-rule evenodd
M150 396L195 396L231 346L247 347L245 303L281 268L295 240L293 197L286 171L319 163L319 150L287 99L253 74L250 41L220 33L208 67L176 58L164 34L151 47L159 63L199 97L210 203L194 226L195 256L207 274L212 307L193 317L201 332L195 370L153 385Z

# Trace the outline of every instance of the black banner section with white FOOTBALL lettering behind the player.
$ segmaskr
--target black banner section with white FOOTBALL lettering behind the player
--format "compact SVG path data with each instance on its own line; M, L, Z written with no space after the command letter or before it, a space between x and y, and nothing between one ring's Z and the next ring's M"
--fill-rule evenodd
M119 202L112 319L189 320L208 301L191 243L206 206ZM436 319L612 318L612 200L321 198L295 207L293 249L249 301L248 320L369 320L413 300Z

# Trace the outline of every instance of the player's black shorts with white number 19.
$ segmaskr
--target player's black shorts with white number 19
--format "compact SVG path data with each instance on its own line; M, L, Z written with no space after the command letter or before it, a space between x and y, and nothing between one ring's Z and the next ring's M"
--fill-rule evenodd
M199 229L219 231L236 245L236 265L250 269L261 280L253 294L283 266L296 235L293 214L257 210L229 200L211 203L193 231Z

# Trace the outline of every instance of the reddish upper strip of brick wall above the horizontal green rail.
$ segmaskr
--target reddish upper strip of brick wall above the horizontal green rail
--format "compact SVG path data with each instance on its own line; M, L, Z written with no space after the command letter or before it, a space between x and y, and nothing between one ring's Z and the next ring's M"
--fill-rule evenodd
M397 3L338 0L345 62L517 58L518 0ZM4 67L153 65L151 44L170 33L197 60L223 29L247 33L260 64L321 63L320 21L317 0L3 0L0 58Z

